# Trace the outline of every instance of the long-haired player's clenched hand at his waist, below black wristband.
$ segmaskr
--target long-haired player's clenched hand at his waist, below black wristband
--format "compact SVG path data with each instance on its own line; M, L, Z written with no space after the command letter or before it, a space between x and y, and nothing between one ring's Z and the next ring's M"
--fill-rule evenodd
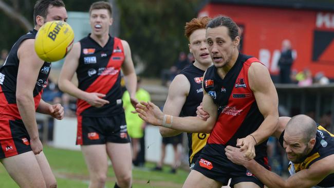
M240 147L240 151L246 151L244 156L248 159L254 159L255 157L255 140L252 136L248 135L245 138L238 139L236 141L236 146Z

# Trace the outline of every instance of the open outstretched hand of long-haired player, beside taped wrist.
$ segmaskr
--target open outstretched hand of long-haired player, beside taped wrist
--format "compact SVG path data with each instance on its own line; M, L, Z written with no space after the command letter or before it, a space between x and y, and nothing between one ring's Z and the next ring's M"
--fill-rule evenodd
M147 123L158 126L162 125L163 113L152 102L146 103L141 101L140 104L137 104L136 111L138 112L138 116Z

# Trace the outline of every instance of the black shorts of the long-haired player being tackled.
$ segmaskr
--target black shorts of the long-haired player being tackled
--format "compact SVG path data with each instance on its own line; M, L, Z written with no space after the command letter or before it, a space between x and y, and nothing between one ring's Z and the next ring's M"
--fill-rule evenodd
M255 160L270 170L267 157L256 158ZM259 187L264 187L264 184L247 168L234 164L226 157L225 145L222 144L207 144L203 148L193 170L210 179L219 181L223 185L227 185L231 178L231 187L240 182L254 182Z

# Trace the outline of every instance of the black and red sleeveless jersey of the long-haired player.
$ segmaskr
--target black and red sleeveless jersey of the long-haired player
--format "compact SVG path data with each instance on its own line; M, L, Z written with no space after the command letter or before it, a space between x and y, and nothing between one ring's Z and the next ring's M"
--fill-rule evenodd
M218 106L218 118L208 139L209 144L235 146L238 138L253 133L264 121L249 86L248 69L254 62L259 61L239 53L224 79L219 77L215 66L208 68L203 88ZM256 157L264 157L266 142L255 146L255 150Z

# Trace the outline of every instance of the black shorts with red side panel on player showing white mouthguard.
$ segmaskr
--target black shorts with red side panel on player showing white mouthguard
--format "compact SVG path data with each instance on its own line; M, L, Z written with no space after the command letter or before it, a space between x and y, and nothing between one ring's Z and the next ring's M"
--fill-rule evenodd
M77 144L129 143L124 113L110 117L78 116Z

